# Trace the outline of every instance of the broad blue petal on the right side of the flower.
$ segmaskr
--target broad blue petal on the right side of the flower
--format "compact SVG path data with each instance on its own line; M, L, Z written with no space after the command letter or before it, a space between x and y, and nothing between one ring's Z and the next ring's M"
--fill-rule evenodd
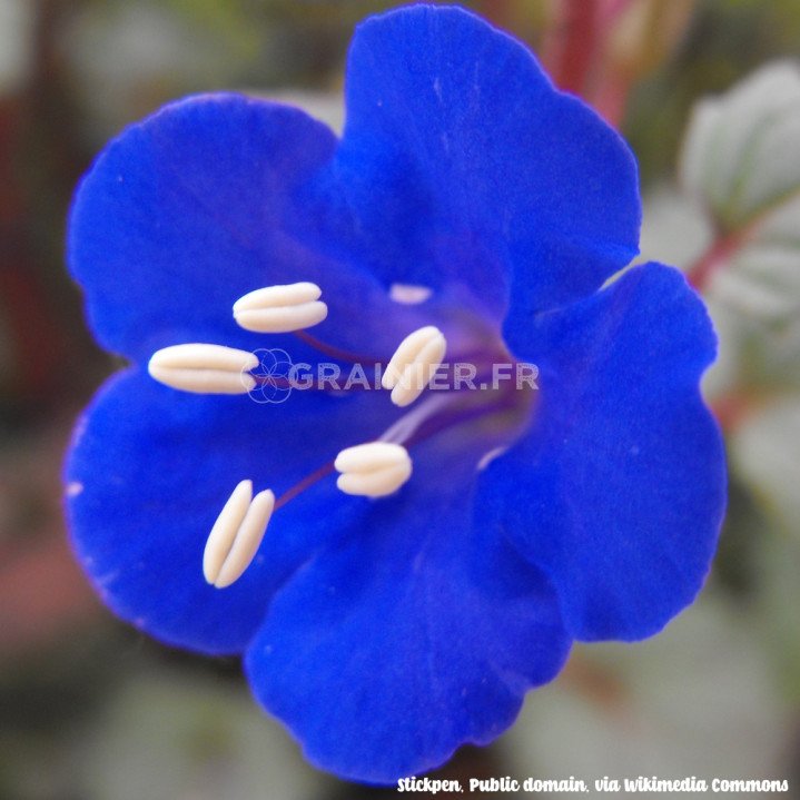
M715 353L702 302L648 265L518 338L540 398L529 435L484 473L491 516L553 580L575 638L653 634L699 592L724 512L698 386Z

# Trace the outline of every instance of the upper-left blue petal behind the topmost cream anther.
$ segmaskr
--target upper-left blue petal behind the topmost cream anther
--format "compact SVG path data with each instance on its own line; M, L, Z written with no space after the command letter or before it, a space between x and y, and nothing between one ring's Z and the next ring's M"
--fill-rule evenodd
M398 330L386 319L407 333L411 312L319 240L319 215L303 199L335 146L302 111L233 95L189 98L128 128L83 180L70 219L70 266L100 343L134 359L180 342L251 349L234 302L312 280L329 306L315 333L391 354Z

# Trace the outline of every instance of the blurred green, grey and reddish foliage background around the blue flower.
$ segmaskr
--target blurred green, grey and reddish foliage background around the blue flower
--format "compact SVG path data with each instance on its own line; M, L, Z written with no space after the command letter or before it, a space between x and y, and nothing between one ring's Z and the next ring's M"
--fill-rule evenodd
M2 800L394 794L308 767L236 660L115 621L70 555L59 473L75 416L116 368L63 266L92 157L197 91L280 97L340 126L353 27L395 4L0 0ZM510 733L442 774L784 778L800 797L800 4L463 4L527 41L635 150L643 253L687 270L721 337L705 389L731 487L692 608L635 646L577 646Z

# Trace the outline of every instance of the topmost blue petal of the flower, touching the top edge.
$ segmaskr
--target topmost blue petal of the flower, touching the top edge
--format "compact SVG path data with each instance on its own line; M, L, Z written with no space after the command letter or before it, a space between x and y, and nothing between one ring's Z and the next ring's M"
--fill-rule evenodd
M465 283L495 315L511 293L516 316L590 294L636 253L622 139L477 17L414 6L367 20L346 86L336 225L361 233L385 282Z

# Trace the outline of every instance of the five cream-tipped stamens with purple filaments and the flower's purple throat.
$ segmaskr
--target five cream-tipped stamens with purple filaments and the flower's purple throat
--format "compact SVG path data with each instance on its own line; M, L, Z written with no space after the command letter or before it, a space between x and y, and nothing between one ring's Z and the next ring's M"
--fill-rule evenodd
M234 317L249 330L294 333L316 352L357 366L362 374L364 366L373 368L379 386L365 387L359 382L358 387L382 387L391 392L391 402L398 408L411 407L376 441L342 451L277 500L270 490L254 497L251 482L240 481L205 549L204 574L218 589L230 585L245 572L271 515L334 472L339 473L337 486L345 494L383 497L411 478L409 452L422 443L441 438L447 442L446 446L453 446L455 441L460 458L462 455L474 458L477 471L506 450L531 419L537 388L536 367L514 359L500 336L477 318L470 325L468 335L455 335L451 342L438 328L426 326L403 339L388 359L363 356L307 333L306 328L327 316L320 295L319 288L308 283L258 289L234 305ZM461 324L463 327L463 318ZM186 344L156 353L149 372L157 381L186 392L245 394L259 382L275 379L271 375L257 375L257 366L258 358L245 350ZM342 391L325 382L303 388ZM345 385L344 391L347 388ZM423 393L425 396L416 403ZM456 434L455 439L451 434Z

